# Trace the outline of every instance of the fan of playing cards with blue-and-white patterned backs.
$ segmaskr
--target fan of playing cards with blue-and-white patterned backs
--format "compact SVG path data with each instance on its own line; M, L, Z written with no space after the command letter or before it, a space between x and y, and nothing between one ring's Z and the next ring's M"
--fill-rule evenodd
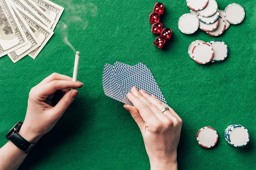
M114 65L105 64L102 82L105 95L122 103L132 105L127 94L136 86L167 104L153 74L142 62L134 66L122 62L115 62Z

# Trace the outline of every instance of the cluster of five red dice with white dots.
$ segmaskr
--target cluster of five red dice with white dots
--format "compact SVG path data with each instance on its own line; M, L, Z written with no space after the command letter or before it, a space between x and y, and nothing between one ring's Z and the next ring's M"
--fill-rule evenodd
M149 14L149 23L152 23L151 32L154 34L160 34L154 40L153 44L157 46L157 48L162 48L166 43L166 40L169 40L172 36L172 29L163 28L162 23L160 23L160 14L163 14L164 4L163 3L155 3L153 12Z

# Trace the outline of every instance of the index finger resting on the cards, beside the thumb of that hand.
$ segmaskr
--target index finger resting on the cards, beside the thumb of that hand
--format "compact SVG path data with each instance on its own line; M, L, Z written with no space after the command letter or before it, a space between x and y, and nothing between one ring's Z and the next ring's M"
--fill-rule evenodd
M146 105L143 101L141 101L137 96L134 94L128 93L127 98L132 102L134 107L139 111L140 116L145 122L152 122L154 123L157 120L157 117L153 113L153 111Z

